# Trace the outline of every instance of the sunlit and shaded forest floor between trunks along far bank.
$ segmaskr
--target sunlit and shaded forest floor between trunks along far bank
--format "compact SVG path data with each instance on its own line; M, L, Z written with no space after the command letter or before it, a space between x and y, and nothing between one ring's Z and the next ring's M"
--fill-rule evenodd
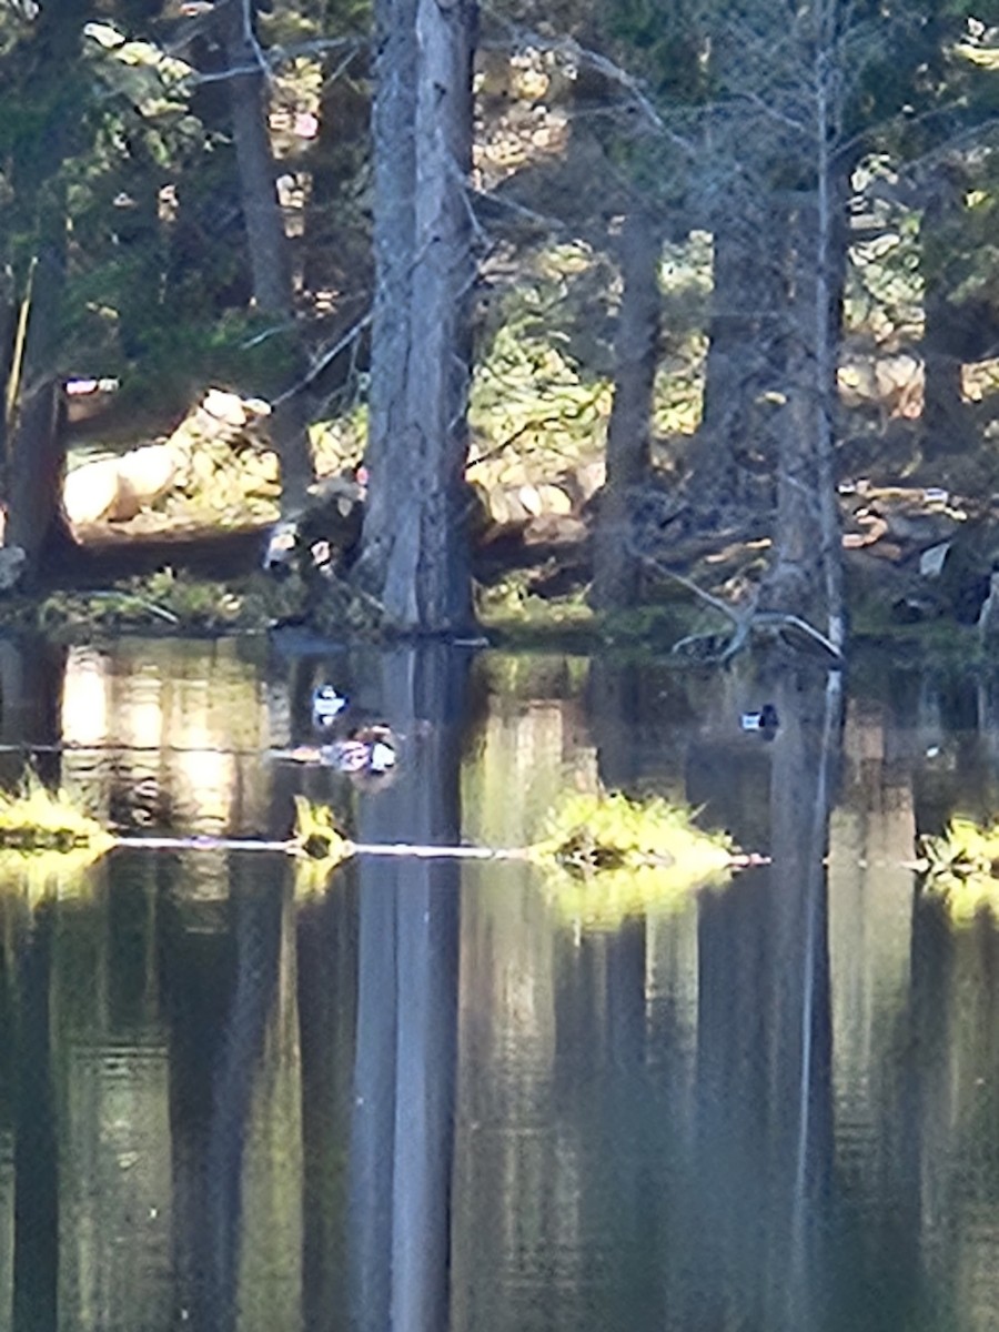
M262 570L278 492L276 460L254 432L248 402L210 390L172 433L151 430L155 445L129 449L125 441L95 461L92 446L77 441L71 461L77 543L48 571L40 609L37 598L9 598L7 621L35 618L80 637L119 629L260 630L304 618L310 589ZM867 634L974 623L999 561L999 497L980 478L968 478L974 500L916 484L922 469L914 473L906 458L911 438L900 441L896 457L898 445L896 436L895 448L883 450L878 480L840 484L852 623ZM173 460L169 476L157 472L165 453ZM143 458L151 460L152 478ZM353 496L353 481L344 478L356 461L349 453L321 458L326 480L317 513L325 505L337 530L320 535L334 545L360 531L360 509L344 498ZM645 605L601 626L586 605L593 497L602 480L593 457L562 460L558 473L550 460L523 458L472 474L478 611L486 629L503 637L589 639L602 630L615 639L669 642L721 617L698 606L663 567L738 603L766 566L767 514L697 511L661 477L635 497L639 546L650 555ZM148 493L136 493L143 485Z

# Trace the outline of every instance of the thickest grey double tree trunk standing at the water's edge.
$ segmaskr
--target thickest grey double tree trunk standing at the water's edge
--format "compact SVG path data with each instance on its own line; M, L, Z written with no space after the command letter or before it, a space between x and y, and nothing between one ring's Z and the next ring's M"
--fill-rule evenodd
M474 282L466 193L474 7L470 0L417 0L414 23L404 0L392 11L400 43L386 44L377 56L374 151L377 157L389 155L377 208L388 210L386 226L392 222L400 233L409 226L409 244L405 234L400 240L412 264L402 292L398 261L386 272L378 246L378 286L382 277L394 280L408 300L396 309L401 326L394 338L386 334L389 312L381 312L382 345L372 373L386 380L376 389L382 413L376 428L392 424L393 433L373 440L364 551L369 569L384 569L380 599L386 627L434 634L462 630L473 621L465 464ZM401 64L390 64L390 56ZM385 105L382 95L406 99L401 87L386 89L384 80L401 85L406 69L416 71L412 163L402 147L382 137L400 109Z

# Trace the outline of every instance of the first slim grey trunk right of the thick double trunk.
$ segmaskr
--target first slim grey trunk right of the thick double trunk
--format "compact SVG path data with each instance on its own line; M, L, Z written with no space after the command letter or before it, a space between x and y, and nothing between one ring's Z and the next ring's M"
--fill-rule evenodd
M659 250L651 220L631 212L621 238L621 312L615 338L614 406L607 425L607 480L599 497L593 551L593 603L634 603L638 565L629 550L629 490L649 466L649 428L659 342Z

